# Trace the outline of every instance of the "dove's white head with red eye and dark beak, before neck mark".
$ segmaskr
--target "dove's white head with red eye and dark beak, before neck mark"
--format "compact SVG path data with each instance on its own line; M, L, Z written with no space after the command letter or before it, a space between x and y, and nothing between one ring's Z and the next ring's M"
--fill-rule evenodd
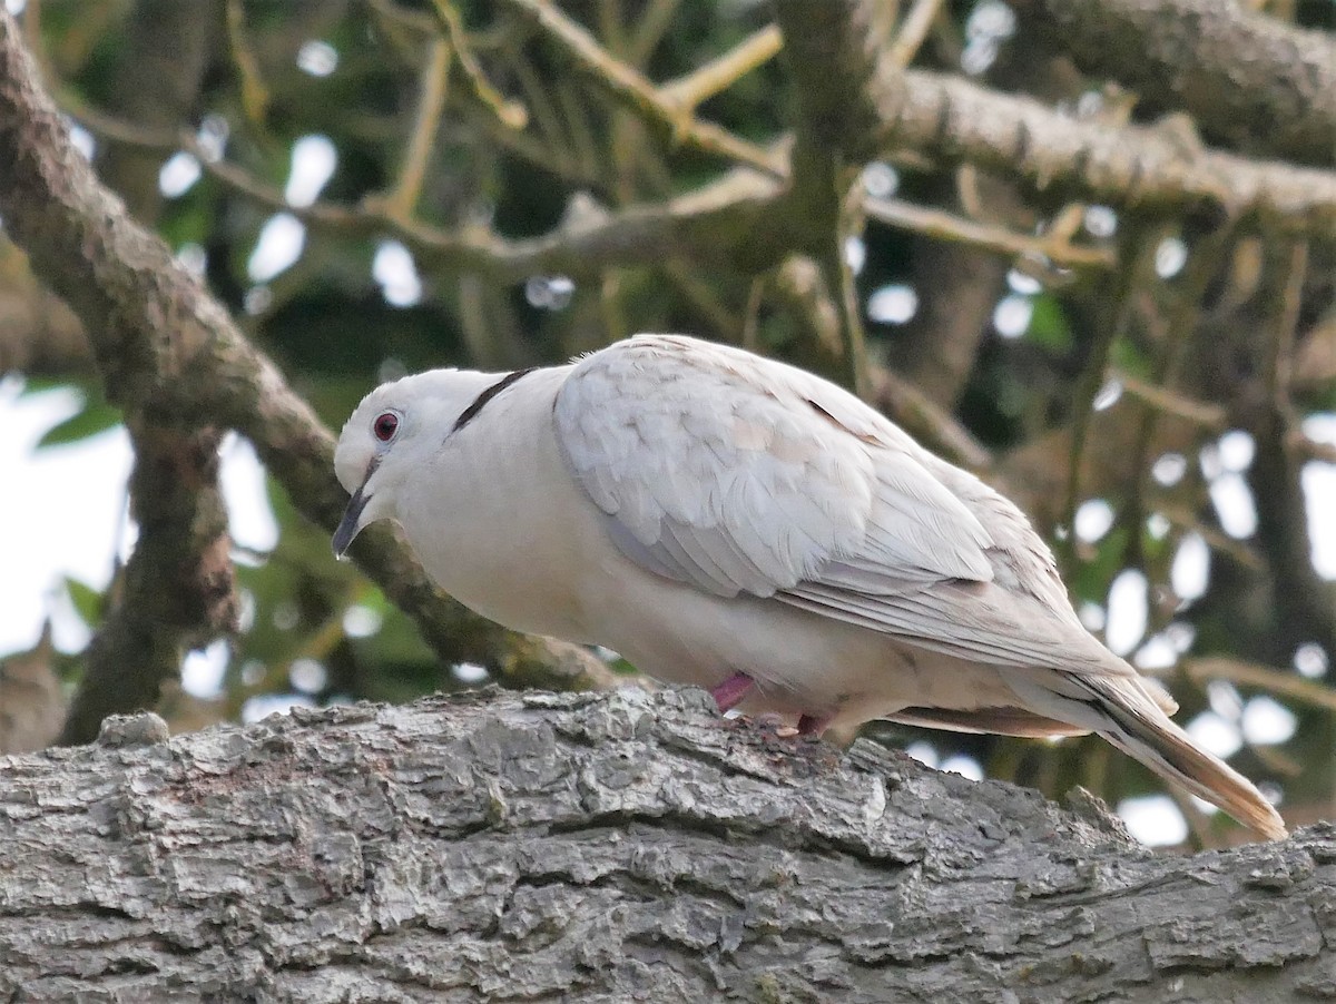
M334 470L353 497L334 531L335 555L342 558L363 527L397 518L405 481L442 451L460 415L494 381L494 374L432 370L362 398L334 450Z

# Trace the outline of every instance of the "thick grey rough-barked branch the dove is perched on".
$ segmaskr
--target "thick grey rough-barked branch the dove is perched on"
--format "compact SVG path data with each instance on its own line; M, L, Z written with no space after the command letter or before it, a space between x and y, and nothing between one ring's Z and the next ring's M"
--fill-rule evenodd
M1194 857L1089 796L703 692L358 705L0 760L11 1000L1336 996L1336 828Z

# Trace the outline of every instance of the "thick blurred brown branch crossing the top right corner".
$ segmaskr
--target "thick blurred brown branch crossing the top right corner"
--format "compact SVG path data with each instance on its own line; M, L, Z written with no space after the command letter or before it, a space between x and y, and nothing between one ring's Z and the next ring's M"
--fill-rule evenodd
M1233 0L1015 0L1022 36L1113 77L1152 112L1192 113L1210 142L1336 163L1336 39Z

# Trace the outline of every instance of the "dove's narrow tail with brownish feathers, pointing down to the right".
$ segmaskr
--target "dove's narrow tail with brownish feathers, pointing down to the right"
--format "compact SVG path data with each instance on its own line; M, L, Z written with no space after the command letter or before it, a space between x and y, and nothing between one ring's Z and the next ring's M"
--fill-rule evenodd
M1061 693L1037 678L1025 681L1018 689L1023 689L1030 701L1039 697L1041 706L1047 705L1046 713L1098 733L1166 781L1218 805L1269 840L1288 836L1280 813L1252 781L1197 746L1161 710L1161 702L1138 677L1063 674ZM1035 693L1041 689L1049 700ZM1054 698L1061 710L1053 706Z

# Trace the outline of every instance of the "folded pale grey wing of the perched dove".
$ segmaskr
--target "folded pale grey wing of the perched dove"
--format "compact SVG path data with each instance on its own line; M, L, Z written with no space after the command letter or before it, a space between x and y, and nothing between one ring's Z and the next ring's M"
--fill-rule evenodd
M1130 672L1019 510L810 374L645 335L577 363L553 417L611 539L655 574L965 658Z

